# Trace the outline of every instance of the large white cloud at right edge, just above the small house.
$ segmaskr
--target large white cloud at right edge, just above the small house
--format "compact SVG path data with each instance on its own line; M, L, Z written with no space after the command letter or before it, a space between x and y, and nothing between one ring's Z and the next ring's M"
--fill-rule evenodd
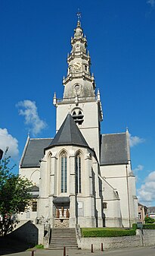
M145 179L145 183L138 189L138 201L143 204L150 205L152 201L155 201L155 171Z

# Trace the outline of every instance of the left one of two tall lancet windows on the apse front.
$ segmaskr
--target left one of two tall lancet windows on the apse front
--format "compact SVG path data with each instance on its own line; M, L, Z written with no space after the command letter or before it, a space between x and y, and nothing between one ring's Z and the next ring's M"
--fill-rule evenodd
M60 156L60 191L67 193L67 153L63 152Z

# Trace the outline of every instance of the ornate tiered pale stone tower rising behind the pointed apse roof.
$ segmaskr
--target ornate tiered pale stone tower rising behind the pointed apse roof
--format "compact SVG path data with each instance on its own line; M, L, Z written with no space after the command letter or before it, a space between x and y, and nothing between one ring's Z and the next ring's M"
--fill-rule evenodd
M71 38L71 46L72 50L67 56L67 77L63 79L63 99L57 99L54 93L53 102L57 107L56 130L59 130L70 112L89 147L95 149L99 160L100 122L103 114L100 93L99 90L98 93L95 91L95 77L90 71L91 58L80 21Z

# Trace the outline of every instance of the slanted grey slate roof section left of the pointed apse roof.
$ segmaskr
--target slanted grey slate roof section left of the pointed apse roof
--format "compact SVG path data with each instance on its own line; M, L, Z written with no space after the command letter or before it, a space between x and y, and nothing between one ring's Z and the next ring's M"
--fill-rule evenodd
M39 167L39 160L44 156L44 148L48 147L51 143L51 138L46 139L33 139L30 138L24 153L23 160L20 167Z

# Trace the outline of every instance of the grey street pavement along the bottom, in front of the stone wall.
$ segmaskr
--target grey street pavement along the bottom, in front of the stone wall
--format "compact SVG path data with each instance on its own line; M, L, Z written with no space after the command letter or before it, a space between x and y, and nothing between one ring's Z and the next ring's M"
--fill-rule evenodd
M1 247L0 247L1 248ZM154 256L154 247L143 247L143 248L121 248L116 250L105 250L105 251L94 251L93 253L88 250L73 250L67 249L66 254L64 250L45 250L37 249L36 251L19 251L19 252L9 252L7 249L1 252L0 255L10 255L10 256Z

